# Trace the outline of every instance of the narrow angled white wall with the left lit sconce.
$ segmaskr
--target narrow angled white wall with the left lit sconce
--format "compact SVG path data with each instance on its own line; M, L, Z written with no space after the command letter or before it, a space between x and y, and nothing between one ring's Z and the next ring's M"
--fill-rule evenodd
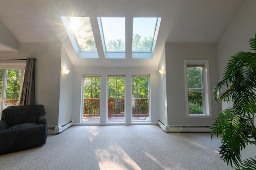
M71 63L65 48L62 45L61 69L70 70L66 75L60 74L60 104L58 125L63 125L71 120L73 104L73 64Z

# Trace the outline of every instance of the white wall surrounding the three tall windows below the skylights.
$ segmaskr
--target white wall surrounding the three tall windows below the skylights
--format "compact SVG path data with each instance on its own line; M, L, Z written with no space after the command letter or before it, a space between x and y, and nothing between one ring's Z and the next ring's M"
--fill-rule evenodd
M72 119L74 123L80 123L80 116L82 112L82 75L83 74L101 74L101 102L100 102L100 112L103 113L107 111L106 98L107 98L107 75L108 74L126 74L126 97L131 94L127 94L128 90L131 90L130 77L132 74L150 74L150 94L151 94L151 121L157 122L159 118L159 107L158 107L158 68L157 67L74 67L73 73L73 113ZM127 101L131 104L131 101ZM126 107L126 111L131 111L131 108ZM127 113L126 113L127 114ZM130 121L130 120L128 120ZM103 119L100 123L105 123Z

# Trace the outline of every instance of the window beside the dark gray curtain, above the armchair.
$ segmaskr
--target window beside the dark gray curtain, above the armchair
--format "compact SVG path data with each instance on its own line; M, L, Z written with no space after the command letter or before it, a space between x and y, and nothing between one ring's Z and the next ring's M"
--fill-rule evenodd
M25 66L0 66L0 111L18 106Z

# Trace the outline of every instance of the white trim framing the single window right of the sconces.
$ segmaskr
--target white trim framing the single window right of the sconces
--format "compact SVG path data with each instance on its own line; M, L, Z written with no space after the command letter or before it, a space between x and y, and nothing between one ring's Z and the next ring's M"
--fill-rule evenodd
M187 63L204 63L203 69L203 85L204 85L204 101L203 109L205 114L189 114L188 112L188 85L187 85ZM186 117L194 118L209 118L212 117L211 108L211 93L210 93L210 74L208 60L184 60L184 74L185 74L185 94L186 94Z

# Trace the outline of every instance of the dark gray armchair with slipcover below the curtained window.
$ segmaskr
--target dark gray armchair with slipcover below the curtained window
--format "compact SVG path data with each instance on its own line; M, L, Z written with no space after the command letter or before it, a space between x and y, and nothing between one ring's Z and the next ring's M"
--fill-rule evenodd
M44 145L47 120L43 105L10 106L2 111L0 154Z

